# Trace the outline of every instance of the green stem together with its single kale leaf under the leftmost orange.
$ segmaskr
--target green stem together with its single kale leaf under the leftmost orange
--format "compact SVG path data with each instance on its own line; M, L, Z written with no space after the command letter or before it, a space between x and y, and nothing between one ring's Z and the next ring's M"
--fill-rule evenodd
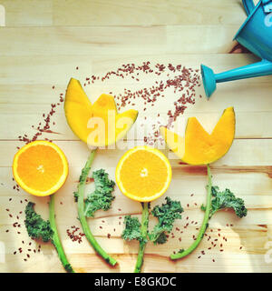
M62 242L58 235L57 226L55 223L55 214L54 214L54 195L51 196L49 204L49 220L45 221L42 216L38 215L34 211L34 203L28 202L24 210L25 213L25 227L28 233L28 236L35 239L42 239L44 243L51 242L55 247L58 256L63 264L64 269L68 273L75 273L73 267L68 262L67 257L65 256Z

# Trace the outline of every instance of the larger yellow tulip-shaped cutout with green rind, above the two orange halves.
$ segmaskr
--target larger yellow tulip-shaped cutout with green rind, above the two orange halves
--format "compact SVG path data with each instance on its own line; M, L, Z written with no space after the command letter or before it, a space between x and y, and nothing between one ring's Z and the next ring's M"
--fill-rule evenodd
M71 78L64 111L68 125L89 146L111 146L121 140L137 119L137 110L118 114L112 95L102 94L92 105L78 80Z

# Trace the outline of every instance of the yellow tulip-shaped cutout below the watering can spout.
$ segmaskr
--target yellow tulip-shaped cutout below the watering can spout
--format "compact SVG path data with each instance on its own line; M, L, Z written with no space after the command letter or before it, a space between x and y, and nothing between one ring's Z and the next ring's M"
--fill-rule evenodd
M188 120L185 137L181 137L164 126L160 134L180 159L189 165L208 165L228 153L235 135L235 112L228 107L221 115L211 135L200 125L196 117Z

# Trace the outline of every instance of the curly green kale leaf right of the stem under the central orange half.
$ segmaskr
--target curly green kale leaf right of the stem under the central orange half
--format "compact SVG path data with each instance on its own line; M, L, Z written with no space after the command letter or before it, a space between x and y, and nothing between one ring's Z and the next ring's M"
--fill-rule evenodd
M167 242L167 234L171 232L174 221L181 219L180 213L183 212L180 201L173 201L170 197L166 197L165 199L165 204L155 206L151 211L151 214L159 220L158 224L154 226L149 234L149 238L154 245Z

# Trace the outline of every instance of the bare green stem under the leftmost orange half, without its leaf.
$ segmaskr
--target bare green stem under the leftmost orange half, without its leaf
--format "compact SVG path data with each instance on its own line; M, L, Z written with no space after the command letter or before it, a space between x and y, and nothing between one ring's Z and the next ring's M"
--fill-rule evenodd
M63 250L63 245L60 240L57 226L55 223L55 214L54 214L54 194L50 197L50 203L49 203L49 221L50 221L50 226L53 230L53 238L52 238L52 243L53 246L55 247L58 256L60 257L60 260L65 268L65 270L68 273L75 273L73 270L73 267L70 265L68 262L67 257L65 256L64 250Z

